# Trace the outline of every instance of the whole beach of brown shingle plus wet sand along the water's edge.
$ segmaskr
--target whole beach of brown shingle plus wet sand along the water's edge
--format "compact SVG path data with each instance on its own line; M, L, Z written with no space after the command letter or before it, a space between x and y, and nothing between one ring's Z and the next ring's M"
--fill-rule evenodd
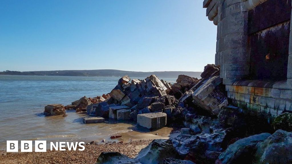
M138 152L145 148L153 139L168 139L179 134L177 130L170 127L164 127L154 131L139 128L135 130L139 131L130 130L128 132L114 134L122 136L117 139L110 139L110 136L108 136L105 138L106 142L101 142L100 139L96 140L96 136L78 139L78 142L87 143L95 141L97 143L85 145L84 151L48 150L44 153L21 153L20 151L19 153L6 153L6 151L0 151L0 164L90 164L95 163L99 154L103 151L119 151L134 158ZM121 141L123 143L112 143ZM49 141L47 140L47 142ZM49 148L48 145L47 148Z

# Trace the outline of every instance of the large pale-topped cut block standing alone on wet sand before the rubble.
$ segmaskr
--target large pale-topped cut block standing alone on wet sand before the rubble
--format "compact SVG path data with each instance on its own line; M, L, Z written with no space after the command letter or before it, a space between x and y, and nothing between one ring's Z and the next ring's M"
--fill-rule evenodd
M166 113L138 114L137 123L148 129L159 129L166 125Z

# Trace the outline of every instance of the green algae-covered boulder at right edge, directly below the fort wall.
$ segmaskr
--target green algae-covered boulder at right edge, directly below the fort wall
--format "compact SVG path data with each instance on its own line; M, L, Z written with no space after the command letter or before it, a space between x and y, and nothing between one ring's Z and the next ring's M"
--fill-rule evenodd
M275 130L282 129L291 132L292 131L292 114L285 112L277 116L273 122Z

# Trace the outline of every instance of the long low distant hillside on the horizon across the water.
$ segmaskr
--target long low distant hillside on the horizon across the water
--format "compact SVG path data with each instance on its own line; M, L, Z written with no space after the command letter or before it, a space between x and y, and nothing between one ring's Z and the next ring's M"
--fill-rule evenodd
M177 78L184 74L191 77L201 78L202 72L189 71L160 71L160 72L135 72L121 71L115 69L97 69L97 70L63 70L63 71L3 71L0 75L35 75L35 76L103 76L103 77L121 77L128 75L130 77L145 78L155 74L159 78Z

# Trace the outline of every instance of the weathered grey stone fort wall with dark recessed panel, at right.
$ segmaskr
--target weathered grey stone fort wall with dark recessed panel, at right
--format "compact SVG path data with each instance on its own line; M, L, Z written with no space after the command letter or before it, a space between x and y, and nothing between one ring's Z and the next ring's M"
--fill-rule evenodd
M292 111L291 0L205 0L203 6L217 25L215 65L232 103L268 118Z

